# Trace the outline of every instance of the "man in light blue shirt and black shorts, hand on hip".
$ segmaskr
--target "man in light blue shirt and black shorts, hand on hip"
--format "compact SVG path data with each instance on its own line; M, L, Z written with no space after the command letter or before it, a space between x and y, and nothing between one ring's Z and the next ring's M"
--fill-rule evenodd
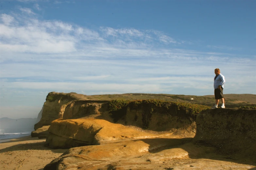
M223 98L223 84L225 83L225 78L222 74L220 74L220 69L216 68L214 70L215 73L215 77L214 77L214 96L216 99L216 103L215 106L212 107L212 109L214 108L218 108L218 104L219 104L219 99L221 99L222 105L220 106L221 108L225 108L224 105L224 98Z

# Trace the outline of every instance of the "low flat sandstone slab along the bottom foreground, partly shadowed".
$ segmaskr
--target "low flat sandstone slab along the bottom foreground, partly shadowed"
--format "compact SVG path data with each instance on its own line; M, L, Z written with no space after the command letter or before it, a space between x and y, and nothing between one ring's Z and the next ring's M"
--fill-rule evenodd
M71 148L44 170L189 170L252 169L215 154L213 147L197 146L191 138L155 138Z

